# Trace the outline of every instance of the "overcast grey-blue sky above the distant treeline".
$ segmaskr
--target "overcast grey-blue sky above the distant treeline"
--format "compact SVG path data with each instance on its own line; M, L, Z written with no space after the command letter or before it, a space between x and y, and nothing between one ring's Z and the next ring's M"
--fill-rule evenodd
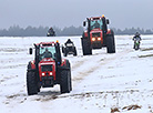
M114 28L153 28L153 0L0 0L0 29L79 27L104 14Z

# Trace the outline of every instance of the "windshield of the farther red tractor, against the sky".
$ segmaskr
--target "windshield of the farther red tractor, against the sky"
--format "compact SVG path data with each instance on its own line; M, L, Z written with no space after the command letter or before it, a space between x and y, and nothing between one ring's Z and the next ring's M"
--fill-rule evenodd
M91 20L90 21L90 29L93 30L93 29L101 29L102 30L102 25L103 25L103 22L102 20Z

